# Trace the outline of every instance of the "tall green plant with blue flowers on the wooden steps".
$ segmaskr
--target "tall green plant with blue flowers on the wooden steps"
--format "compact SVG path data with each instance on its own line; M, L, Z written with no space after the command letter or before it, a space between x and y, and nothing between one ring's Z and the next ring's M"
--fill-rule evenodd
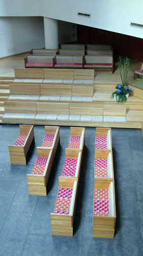
M112 93L112 98L116 98L116 101L118 103L126 102L129 94L132 93L132 87L128 87L128 85L126 84L129 65L130 59L128 59L128 57L126 57L125 59L121 59L121 57L119 57L119 61L116 63L116 66L118 67L121 76L122 84L118 84L115 87L117 91L114 91L114 93Z

